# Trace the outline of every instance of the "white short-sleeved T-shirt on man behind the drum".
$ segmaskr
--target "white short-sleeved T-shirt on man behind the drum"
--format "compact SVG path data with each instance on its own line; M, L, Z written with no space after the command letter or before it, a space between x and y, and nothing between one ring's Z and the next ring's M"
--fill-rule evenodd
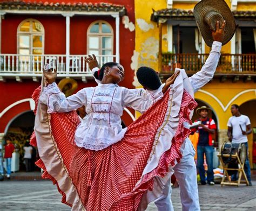
M232 137L233 137L232 142L234 143L248 142L247 136L242 135L242 130L246 131L246 126L249 124L251 124L250 119L248 116L245 116L245 115L232 116L228 119L227 126L232 127Z

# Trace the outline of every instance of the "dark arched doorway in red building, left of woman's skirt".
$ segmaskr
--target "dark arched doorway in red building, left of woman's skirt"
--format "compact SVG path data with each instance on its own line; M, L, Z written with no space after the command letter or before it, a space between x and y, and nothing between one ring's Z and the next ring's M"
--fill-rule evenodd
M35 124L35 115L32 110L24 111L18 114L5 128L5 136L10 139L13 144L15 144L15 154L13 157L12 164L14 171L25 171L24 165L24 145L29 142L30 136L33 132L33 127ZM38 171L39 169L35 166L35 160L37 156L37 151L33 147L32 149L32 160L31 160L31 171Z

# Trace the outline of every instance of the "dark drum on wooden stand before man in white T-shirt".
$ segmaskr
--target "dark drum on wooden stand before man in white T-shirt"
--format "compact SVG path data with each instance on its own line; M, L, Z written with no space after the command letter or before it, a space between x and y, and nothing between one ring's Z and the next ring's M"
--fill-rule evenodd
M246 146L243 143L231 143L226 142L221 146L221 157L224 161L224 164L227 164L228 168L238 168L238 159L233 158L232 154L238 154L238 157L242 164L245 163L246 159ZM229 155L230 157L224 157L223 155ZM227 171L229 175L233 175L237 173L237 171L234 170L228 170Z

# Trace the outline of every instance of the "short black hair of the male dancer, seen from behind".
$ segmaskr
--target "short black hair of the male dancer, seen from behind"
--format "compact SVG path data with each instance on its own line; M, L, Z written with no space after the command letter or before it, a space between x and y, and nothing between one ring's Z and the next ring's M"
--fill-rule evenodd
M150 67L140 67L136 73L139 83L151 90L156 90L161 86L159 75Z

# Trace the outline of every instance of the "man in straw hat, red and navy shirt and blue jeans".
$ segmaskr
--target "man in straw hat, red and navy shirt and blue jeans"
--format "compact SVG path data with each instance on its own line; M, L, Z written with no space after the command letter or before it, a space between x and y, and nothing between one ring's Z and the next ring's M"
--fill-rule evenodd
M206 156L207 170L207 183L214 185L213 176L213 146L212 135L215 133L216 125L212 118L208 117L211 109L202 106L197 109L197 114L200 116L195 122L201 121L198 129L192 129L192 133L199 131L198 144L197 144L197 166L200 175L201 185L206 185L205 168L204 168L204 154Z

